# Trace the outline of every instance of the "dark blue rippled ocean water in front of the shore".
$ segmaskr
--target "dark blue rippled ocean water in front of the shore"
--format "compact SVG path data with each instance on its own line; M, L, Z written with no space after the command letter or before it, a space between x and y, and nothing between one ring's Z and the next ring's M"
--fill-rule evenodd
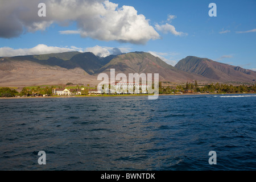
M255 170L255 118L256 94L0 100L0 169Z

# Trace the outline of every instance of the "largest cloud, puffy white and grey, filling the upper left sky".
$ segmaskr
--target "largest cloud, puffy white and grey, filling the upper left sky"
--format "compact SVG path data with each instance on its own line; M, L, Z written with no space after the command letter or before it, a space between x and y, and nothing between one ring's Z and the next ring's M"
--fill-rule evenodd
M13 38L24 30L34 32L46 30L52 23L67 26L73 22L77 30L60 31L60 34L134 44L145 44L160 37L149 20L133 6L118 7L117 3L103 0L44 0L46 17L39 17L40 2L42 0L1 1L0 37Z

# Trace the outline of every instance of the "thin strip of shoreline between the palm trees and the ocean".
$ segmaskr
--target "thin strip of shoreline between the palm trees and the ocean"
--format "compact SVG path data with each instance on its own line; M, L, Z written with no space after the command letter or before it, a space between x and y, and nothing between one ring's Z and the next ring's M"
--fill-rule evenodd
M256 93L185 93L185 94L159 94L158 96L200 96L200 95L225 95L225 94L256 94ZM90 96L47 96L47 97L0 97L1 99L24 99L24 98L80 98L80 97L140 97L153 96L148 94L113 94L113 95L90 95Z

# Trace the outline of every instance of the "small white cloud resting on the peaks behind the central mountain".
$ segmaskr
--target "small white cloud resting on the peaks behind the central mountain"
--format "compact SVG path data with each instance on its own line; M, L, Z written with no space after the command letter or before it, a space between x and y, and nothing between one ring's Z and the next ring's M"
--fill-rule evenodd
M109 55L119 55L121 53L129 52L130 48L116 48L116 47L102 47L94 46L85 49L85 52L92 52L96 56L106 57Z

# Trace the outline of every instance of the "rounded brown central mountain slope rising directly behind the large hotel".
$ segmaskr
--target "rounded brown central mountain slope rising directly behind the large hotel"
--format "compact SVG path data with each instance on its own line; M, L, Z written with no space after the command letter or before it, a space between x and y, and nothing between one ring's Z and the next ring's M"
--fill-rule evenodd
M203 77L177 70L172 65L146 52L130 52L114 57L108 64L100 68L97 73L159 73L162 81L184 82L188 80L202 80Z

